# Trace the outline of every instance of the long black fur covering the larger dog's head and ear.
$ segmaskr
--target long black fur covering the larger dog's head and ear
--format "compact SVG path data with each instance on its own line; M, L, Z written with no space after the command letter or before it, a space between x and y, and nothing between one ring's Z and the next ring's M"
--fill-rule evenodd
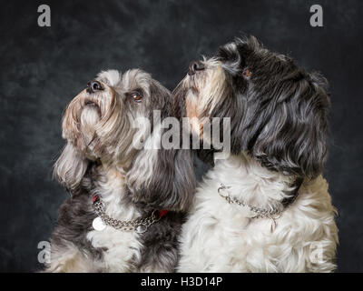
M221 46L217 57L229 97L211 116L231 116L231 152L248 151L262 166L286 175L319 175L327 153L327 80L271 53L253 36Z

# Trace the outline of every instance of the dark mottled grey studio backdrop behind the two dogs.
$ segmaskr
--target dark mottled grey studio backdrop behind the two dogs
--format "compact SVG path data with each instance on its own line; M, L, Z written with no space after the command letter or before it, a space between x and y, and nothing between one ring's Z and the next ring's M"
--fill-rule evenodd
M41 4L51 27L37 25ZM324 27L309 25L313 4ZM338 271L363 271L362 1L3 1L0 15L0 271L40 266L37 244L68 196L52 179L62 114L94 75L141 67L172 89L191 60L241 32L329 79Z

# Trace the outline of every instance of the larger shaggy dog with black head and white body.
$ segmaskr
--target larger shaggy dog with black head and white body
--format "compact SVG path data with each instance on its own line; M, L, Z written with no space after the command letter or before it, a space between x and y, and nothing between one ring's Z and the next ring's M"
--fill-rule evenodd
M174 95L201 138L212 117L231 118L231 155L216 160L196 191L180 272L335 269L335 208L321 176L327 86L253 36L191 63Z

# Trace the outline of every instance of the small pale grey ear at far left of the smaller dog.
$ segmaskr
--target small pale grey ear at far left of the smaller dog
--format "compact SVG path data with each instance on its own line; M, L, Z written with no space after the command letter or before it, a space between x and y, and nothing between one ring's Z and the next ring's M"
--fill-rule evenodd
M88 161L73 145L67 143L54 164L54 177L68 190L74 191L80 184Z

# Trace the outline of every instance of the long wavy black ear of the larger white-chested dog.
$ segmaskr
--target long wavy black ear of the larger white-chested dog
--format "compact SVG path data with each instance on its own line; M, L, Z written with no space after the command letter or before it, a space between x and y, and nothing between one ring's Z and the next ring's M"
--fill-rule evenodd
M315 177L327 153L328 82L317 73L299 73L282 82L269 99L250 106L253 112L248 113L250 122L241 136L263 166L286 175Z

